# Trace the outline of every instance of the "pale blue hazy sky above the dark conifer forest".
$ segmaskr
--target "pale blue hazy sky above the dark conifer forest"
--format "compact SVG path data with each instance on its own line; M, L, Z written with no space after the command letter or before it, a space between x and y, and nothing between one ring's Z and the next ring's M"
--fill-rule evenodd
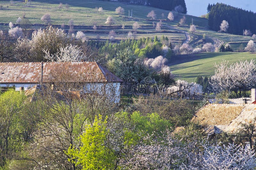
M185 0L188 15L201 16L207 13L208 4L224 3L244 10L256 12L256 0Z

